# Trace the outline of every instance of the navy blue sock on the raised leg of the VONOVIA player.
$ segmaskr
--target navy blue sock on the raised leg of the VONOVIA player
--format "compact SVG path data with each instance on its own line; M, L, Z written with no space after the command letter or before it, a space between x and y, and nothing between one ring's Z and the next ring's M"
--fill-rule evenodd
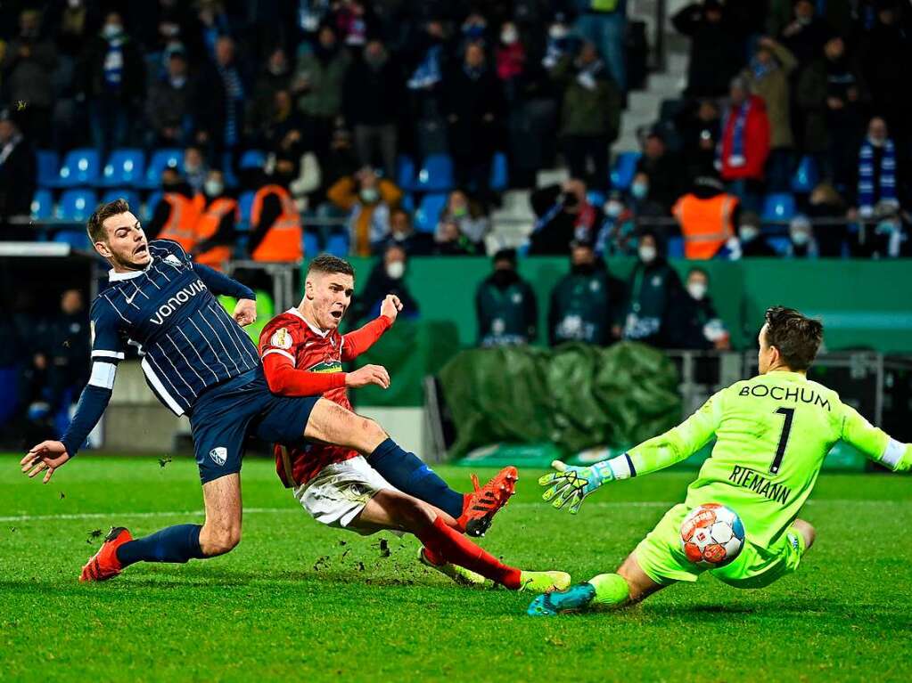
M417 455L402 450L392 439L380 443L368 455L368 463L403 494L414 495L454 518L462 514L462 494L453 491Z

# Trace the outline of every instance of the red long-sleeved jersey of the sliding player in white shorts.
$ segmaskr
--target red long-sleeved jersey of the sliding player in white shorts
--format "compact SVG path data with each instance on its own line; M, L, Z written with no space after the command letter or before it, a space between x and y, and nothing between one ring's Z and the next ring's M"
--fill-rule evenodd
M275 316L260 333L260 357L269 388L287 396L322 394L350 411L342 363L367 351L390 324L381 315L360 330L342 335L337 330L320 330L296 308ZM287 487L306 484L327 464L358 455L347 448L316 443L303 448L276 443L274 448L275 470Z

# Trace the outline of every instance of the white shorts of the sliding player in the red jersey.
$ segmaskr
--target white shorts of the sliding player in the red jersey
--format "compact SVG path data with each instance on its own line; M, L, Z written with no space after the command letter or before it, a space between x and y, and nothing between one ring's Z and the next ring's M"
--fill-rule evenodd
M294 489L295 498L317 522L345 529L383 489L396 490L362 456L327 464L307 484ZM352 528L361 535L374 532Z

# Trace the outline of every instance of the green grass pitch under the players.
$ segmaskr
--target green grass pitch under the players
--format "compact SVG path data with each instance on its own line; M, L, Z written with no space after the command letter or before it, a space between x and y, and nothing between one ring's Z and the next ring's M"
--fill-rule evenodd
M228 556L131 567L80 585L98 532L201 522L195 465L83 454L47 486L0 457L0 680L736 681L912 679L912 478L824 474L817 545L762 591L710 576L635 609L525 616L532 596L467 589L417 565L417 542L326 529L273 473L244 464L244 540ZM457 487L468 471L438 468ZM482 478L489 472L480 472ZM693 473L612 484L575 518L540 473L483 545L576 580L613 570Z

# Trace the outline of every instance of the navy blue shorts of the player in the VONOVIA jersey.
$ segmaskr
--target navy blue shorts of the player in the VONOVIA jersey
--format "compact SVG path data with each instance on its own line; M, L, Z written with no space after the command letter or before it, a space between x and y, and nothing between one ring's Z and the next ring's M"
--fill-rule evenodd
M193 405L190 426L203 484L241 471L247 437L304 444L304 428L319 396L276 396L263 368L212 387Z

